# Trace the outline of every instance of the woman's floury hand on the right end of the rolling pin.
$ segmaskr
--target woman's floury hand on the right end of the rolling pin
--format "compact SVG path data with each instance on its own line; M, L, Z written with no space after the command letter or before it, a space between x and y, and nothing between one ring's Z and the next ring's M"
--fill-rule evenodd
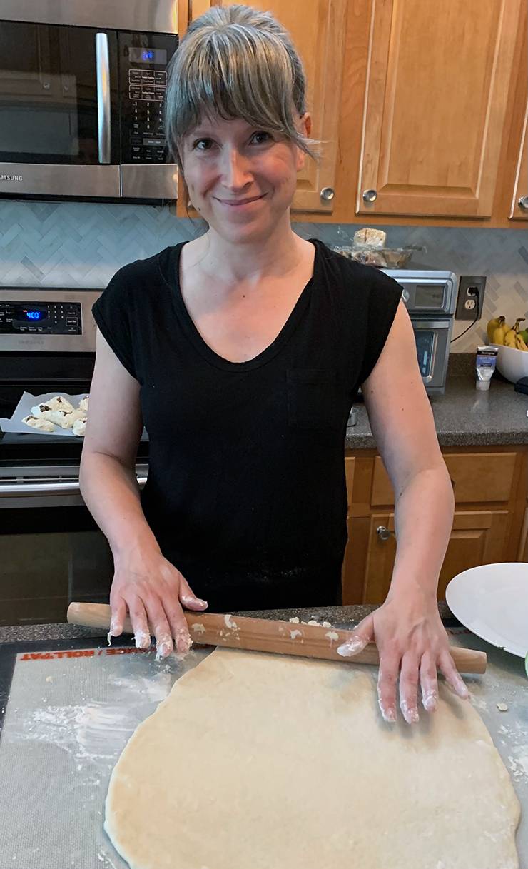
M360 621L351 640L338 651L343 657L352 657L369 642L375 642L380 653L378 700L386 721L396 720L398 674L399 707L407 724L419 720L418 686L426 711L437 708L437 668L459 697L469 697L451 657L436 597L422 588L389 592L385 603Z

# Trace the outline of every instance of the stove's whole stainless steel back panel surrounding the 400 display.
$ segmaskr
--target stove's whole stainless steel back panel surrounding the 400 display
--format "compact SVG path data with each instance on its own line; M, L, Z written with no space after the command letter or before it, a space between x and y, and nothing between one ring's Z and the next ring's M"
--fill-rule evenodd
M0 355L94 353L100 289L0 287Z

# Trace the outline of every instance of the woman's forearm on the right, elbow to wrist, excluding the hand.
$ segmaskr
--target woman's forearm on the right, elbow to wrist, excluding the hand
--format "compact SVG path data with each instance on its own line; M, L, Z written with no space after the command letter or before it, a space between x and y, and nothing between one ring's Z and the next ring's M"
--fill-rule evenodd
M419 471L399 494L394 510L397 549L390 594L419 586L436 596L453 507L445 466Z

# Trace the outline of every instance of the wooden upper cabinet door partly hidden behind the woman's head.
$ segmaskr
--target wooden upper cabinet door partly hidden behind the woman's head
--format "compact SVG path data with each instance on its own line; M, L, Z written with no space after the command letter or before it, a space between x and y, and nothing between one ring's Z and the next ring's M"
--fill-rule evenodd
M217 5L234 3L224 0ZM332 213L347 0L249 0L247 5L271 12L289 30L307 76L312 138L322 142L320 160L307 157L305 169L299 173L292 208Z

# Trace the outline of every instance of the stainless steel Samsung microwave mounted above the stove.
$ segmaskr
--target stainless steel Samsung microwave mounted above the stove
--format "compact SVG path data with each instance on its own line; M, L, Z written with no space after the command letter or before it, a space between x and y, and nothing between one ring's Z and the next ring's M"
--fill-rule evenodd
M0 0L0 197L175 199L176 0Z

